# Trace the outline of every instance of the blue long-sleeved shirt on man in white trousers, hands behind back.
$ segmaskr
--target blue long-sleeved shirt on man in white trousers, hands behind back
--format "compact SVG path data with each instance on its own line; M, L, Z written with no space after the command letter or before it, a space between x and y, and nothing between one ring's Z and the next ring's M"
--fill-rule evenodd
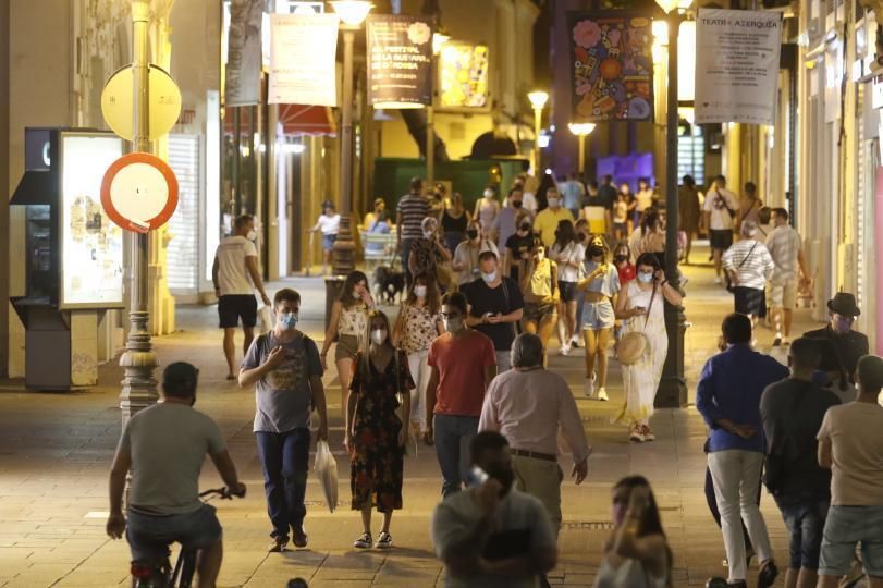
M702 368L696 389L696 408L711 428L708 451L744 450L764 453L767 441L760 420L760 396L771 383L789 376L788 368L748 345L731 345ZM749 439L714 425L719 419L755 427Z

